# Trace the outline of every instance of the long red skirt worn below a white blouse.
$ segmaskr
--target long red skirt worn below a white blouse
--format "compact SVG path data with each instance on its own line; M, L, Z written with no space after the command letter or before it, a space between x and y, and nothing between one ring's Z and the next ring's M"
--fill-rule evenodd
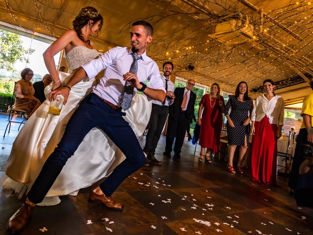
M255 135L251 146L251 179L276 186L277 125L265 116L254 122Z

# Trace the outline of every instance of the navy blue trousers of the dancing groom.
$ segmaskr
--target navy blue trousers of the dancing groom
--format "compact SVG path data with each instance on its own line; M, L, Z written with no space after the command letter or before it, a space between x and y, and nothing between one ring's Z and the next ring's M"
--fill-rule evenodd
M124 115L112 109L95 94L89 94L69 119L61 141L48 157L28 192L29 200L36 204L42 202L68 158L74 154L84 137L94 127L102 129L126 156L126 159L100 185L102 191L111 196L114 190L146 160L133 129L123 118Z

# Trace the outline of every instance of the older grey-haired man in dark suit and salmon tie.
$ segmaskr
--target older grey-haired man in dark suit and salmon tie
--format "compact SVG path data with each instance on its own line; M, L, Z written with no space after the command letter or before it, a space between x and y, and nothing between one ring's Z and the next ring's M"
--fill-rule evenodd
M197 95L191 91L195 83L195 80L189 79L185 88L179 87L174 91L175 100L169 109L164 155L169 156L171 154L174 138L176 138L174 156L180 157L186 130L195 112Z

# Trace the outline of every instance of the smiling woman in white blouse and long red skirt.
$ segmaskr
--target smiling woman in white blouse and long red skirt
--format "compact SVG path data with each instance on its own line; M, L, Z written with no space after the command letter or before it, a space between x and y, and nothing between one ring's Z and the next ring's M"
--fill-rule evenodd
M256 98L252 111L251 179L277 186L277 140L284 125L284 99L274 93L274 82L263 82L265 94Z

